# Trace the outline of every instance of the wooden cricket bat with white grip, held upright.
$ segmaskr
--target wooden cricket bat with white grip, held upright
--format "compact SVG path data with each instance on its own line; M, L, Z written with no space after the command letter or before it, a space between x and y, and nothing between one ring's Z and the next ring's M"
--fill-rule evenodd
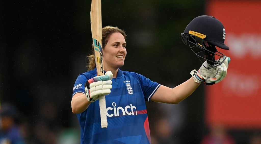
M101 0L92 0L91 5L91 30L93 48L97 69L97 76L104 75L103 70L103 55L102 55L102 2ZM99 97L100 104L100 119L102 128L107 128L107 113L106 113L106 101L105 96Z

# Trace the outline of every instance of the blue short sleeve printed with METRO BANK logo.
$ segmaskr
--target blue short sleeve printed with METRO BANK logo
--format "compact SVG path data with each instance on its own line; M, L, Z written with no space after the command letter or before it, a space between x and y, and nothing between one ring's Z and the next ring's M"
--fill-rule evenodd
M84 75L79 75L74 83L73 87L73 95L76 93L85 93L84 92L84 85L85 82L87 81L87 78ZM72 95L72 97L73 97Z

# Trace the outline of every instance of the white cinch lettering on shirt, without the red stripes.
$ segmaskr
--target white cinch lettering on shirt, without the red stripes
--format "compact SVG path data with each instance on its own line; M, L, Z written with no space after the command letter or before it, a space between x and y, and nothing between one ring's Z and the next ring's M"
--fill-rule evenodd
M116 108L116 103L112 103L112 106L113 106L113 108L112 107L107 107L107 109L106 109L106 112L107 112L107 116L108 117L112 117L112 116L120 116L119 115L119 110L121 110L122 111L122 114L125 116L126 115L126 113L127 113L127 115L134 115L134 111L133 111L133 109L135 109L135 113L136 113L136 116L137 116L137 108L136 108L136 106L132 106L132 104L131 104L131 106L125 106L125 108L123 109L123 107L117 107ZM131 111L131 112L128 112L128 109L129 109L129 111ZM111 114L108 114L108 110L114 110L114 114L113 114L113 111L112 111L112 113Z

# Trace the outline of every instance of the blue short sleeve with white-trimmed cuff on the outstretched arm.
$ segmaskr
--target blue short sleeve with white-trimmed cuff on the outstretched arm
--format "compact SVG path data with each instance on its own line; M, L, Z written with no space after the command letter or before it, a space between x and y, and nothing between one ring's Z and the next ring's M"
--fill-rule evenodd
M158 84L157 82L151 81L150 79L146 78L143 75L136 73L136 76L140 80L141 89L143 91L145 100L152 102L152 101L150 101L150 99L151 99L152 95L157 91L160 84Z

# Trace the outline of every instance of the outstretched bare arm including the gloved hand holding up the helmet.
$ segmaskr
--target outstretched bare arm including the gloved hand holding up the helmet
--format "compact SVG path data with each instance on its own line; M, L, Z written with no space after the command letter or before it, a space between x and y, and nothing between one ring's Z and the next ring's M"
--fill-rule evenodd
M223 61L223 58L221 58L220 61ZM201 82L205 81L206 85L213 85L222 81L227 75L229 62L230 58L227 57L217 67L207 69L204 67L204 65L209 65L206 61L203 63L204 65L202 65L198 71L192 70L190 73L192 77L187 81L181 83L180 85L174 88L169 88L161 85L151 97L151 101L178 104L189 95L191 95Z

